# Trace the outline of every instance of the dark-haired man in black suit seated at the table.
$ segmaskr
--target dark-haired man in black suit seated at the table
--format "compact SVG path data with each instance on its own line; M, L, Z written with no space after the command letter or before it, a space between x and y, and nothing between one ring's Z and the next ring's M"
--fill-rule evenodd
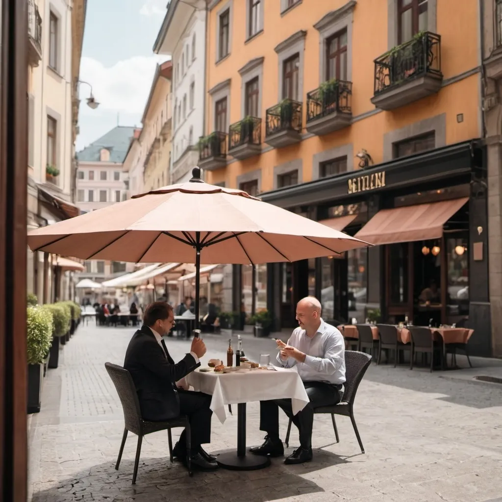
M216 469L215 457L201 447L210 442L211 396L189 391L185 381L185 376L200 366L199 358L206 353L206 346L202 339L194 338L190 353L175 363L162 338L174 325L171 305L165 302L150 304L145 310L143 322L129 342L124 360L124 368L131 373L136 386L142 417L160 422L188 415L192 465L202 470ZM183 431L173 450L174 456L182 461L186 459L185 445Z

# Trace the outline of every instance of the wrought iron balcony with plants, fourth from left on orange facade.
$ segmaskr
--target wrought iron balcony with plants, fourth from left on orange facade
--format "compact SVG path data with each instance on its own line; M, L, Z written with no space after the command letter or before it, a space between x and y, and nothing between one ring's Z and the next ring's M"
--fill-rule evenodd
M352 121L352 82L329 80L307 93L307 131L322 136Z

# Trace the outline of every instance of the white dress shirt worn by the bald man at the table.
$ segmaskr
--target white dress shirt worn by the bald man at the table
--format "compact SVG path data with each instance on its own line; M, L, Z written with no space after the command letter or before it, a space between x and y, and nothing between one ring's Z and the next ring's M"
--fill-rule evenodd
M321 318L319 329L312 338L298 327L293 331L288 345L306 354L305 361L298 362L293 357L283 360L280 351L277 360L285 368L296 365L303 382L345 383L345 341L334 326Z

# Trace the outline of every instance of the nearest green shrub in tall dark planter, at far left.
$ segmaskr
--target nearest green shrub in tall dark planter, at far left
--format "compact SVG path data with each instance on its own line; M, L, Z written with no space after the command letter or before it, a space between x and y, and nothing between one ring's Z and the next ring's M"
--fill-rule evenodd
M51 312L42 307L28 307L26 328L28 413L38 413L42 397L43 363L52 341L53 320Z

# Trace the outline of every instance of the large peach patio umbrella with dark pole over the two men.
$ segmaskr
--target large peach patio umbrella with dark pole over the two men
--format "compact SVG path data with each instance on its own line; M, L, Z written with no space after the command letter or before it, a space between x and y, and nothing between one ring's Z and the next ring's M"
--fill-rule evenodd
M37 228L28 245L83 260L195 263L199 324L201 264L295 262L368 244L242 190L192 179Z

